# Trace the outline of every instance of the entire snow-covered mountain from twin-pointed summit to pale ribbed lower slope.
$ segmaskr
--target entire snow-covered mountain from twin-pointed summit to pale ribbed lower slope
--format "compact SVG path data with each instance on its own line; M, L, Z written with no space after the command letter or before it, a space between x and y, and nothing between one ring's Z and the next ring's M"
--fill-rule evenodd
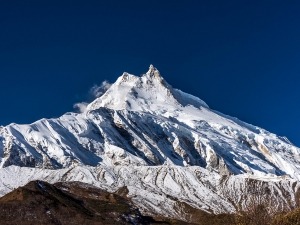
M0 127L0 193L34 179L126 186L146 212L176 217L182 202L232 212L256 180L278 204L294 205L299 153L173 88L150 66L141 77L124 73L83 113Z

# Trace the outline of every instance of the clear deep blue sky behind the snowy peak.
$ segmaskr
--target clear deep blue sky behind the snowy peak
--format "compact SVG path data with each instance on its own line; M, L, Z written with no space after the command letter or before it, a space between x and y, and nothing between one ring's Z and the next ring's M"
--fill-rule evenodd
M0 124L73 110L154 64L211 108L300 146L299 1L0 1Z

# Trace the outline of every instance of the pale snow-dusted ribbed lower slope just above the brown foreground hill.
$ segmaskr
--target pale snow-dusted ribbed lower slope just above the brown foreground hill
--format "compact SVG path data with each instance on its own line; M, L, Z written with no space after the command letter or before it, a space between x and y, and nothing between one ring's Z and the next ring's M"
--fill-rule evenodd
M29 181L80 181L115 192L127 187L128 197L146 214L184 218L181 203L214 213L231 213L247 204L253 190L268 188L272 206L297 205L300 184L294 179L251 175L221 176L199 166L75 166L58 170L9 166L0 170L0 195ZM186 218L188 220L188 218Z

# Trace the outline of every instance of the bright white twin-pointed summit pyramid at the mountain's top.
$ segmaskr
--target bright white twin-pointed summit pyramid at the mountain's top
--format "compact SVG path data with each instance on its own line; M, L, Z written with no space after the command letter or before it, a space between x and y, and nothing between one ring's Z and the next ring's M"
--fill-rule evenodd
M88 106L88 110L106 107L155 112L158 109L169 111L187 105L208 107L201 99L172 88L158 69L150 65L148 72L141 77L123 73L103 96Z

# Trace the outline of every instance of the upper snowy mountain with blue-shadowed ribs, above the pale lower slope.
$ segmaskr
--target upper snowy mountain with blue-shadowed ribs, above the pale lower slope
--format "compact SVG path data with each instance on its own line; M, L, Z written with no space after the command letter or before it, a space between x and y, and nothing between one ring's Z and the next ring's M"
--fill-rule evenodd
M185 104L181 104L173 93L180 93L180 100ZM199 105L188 104L192 101L191 99L193 103L197 102ZM144 117L147 117L147 120ZM105 124L107 119L111 120L110 124ZM151 129L151 134L144 137L147 132L139 129L134 124L134 120L143 120L143 126L146 125L145 128L148 131ZM109 126L111 129L108 129ZM169 126L170 129L165 126ZM172 129L177 132L174 134ZM4 140L2 141L4 143L2 144L2 155L4 156L5 153L9 155L11 153L11 151L9 152L9 145L14 144L18 149L16 150L17 155L22 151L25 154L19 158L13 157L13 159L15 159L14 161L18 159L19 163L25 166L40 163L46 166L48 163L54 168L57 166L64 167L64 164L76 164L78 160L79 163L96 166L103 160L102 153L105 153L105 149L112 149L111 151L118 155L121 154L120 151L122 152L125 145L123 150L133 154L131 161L135 161L137 164L147 165L147 162L142 162L145 157L140 157L141 155L147 156L147 154L151 156L150 158L146 157L146 161L149 162L150 160L154 165L167 160L178 165L201 166L200 162L189 163L188 161L195 161L194 158L197 157L197 160L202 160L203 163L207 164L210 161L216 161L214 158L217 158L221 160L221 164L224 164L224 168L231 167L229 172L233 174L247 171L250 173L259 172L261 168L251 165L249 160L244 160L247 163L240 162L241 157L247 158L247 154L251 154L251 158L265 165L265 168L262 169L265 173L270 173L273 170L272 174L275 175L289 174L299 177L299 167L293 168L293 164L282 160L282 155L289 151L289 158L295 158L299 162L298 148L261 128L212 111L202 100L196 97L176 91L164 81L153 66L150 66L149 71L141 77L123 74L100 98L89 104L87 111L83 114L65 114L58 119L42 119L31 125L12 124L2 128L0 132L1 138ZM114 137L112 132L116 133L117 137ZM143 135L141 136L137 132ZM164 151L163 146L159 147L155 143L154 139L157 137L151 137L153 134L157 136L157 132L160 132L161 137L164 136L168 139L162 143L166 145L165 149L169 148L168 154ZM101 135L97 135L97 133ZM111 136L108 136L108 133ZM182 143L178 138L182 136L180 133L190 133L185 135ZM130 138L134 139L132 141L135 143L120 140ZM147 140L147 138L151 140ZM216 141L211 143L213 138ZM71 143L68 143L70 140L72 140ZM224 142L223 146L222 142ZM273 143L268 148L269 142ZM187 151L182 148L182 145L190 149L190 155L185 154ZM139 148L143 148L143 146L144 149L140 151ZM278 155L269 151L275 147L282 148L286 152L279 152L282 154ZM240 151L237 152L236 148ZM231 149L232 152L226 152L224 149ZM245 154L245 149L248 149L247 154ZM230 154L230 157L227 157L227 154ZM188 161L184 159L185 156ZM64 157L66 162L62 162L60 157ZM225 159L226 157L228 159ZM1 160L1 167L18 165L17 162L5 163L4 158ZM53 159L54 162L52 162ZM36 162L36 160L40 162ZM243 165L238 165L239 163L243 163ZM279 167L282 166L285 166L287 171L280 172Z

